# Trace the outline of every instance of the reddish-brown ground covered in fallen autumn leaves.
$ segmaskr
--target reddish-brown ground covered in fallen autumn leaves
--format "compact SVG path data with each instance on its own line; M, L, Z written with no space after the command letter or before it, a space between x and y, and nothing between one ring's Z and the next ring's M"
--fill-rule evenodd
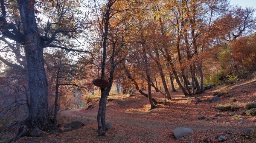
M210 103L207 98L214 93L223 93L221 100ZM233 97L227 97L233 95ZM172 93L172 100L165 101L160 93L153 91L153 97L161 104L150 108L148 99L136 93L132 96L110 95L107 103L106 122L112 122L106 136L97 134L97 112L99 101L90 103L90 108L60 112L58 124L86 120L89 124L70 132L45 137L22 137L16 143L215 143L216 137L223 135L225 143L253 143L255 140L244 138L241 132L256 126L256 116L243 113L245 105L256 102L256 80L242 81L236 85L215 87L196 95L202 102L196 104L195 97L184 97L180 90ZM239 107L235 116L229 111L220 112L218 104ZM219 113L220 116L215 117ZM203 120L198 115L204 115ZM172 131L177 127L187 127L194 131L176 140ZM61 127L64 129L63 127Z

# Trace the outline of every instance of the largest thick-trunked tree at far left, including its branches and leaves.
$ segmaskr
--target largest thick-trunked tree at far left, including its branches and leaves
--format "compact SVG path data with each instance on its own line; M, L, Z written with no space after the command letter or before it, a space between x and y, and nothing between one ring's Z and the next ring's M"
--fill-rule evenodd
M67 5L54 5L56 2L58 1L52 1L52 6L56 6L56 11L58 10L58 7L67 8ZM40 5L42 3L38 4ZM67 10L62 14L56 14L58 16L61 15L62 17L60 17L54 23L50 23L50 21L47 22L43 36L41 34L42 31L39 31L38 29L39 26L37 20L39 19L36 19L36 13L39 11L37 9L38 7L35 6L34 0L17 0L6 2L4 0L0 0L0 6L1 34L4 37L22 45L26 55L27 72L29 76L30 109L29 116L25 123L29 126L29 133L38 128L49 131L52 124L49 121L48 115L47 77L44 69L44 48L54 47L62 48L68 51L82 52L82 50L69 49L58 45L55 40L57 40L59 35L75 38L75 33L79 31L79 28L84 28L84 25L82 24L85 23L84 21L76 23L75 19L73 18L73 26L66 25L61 27L60 25L62 25L64 19L67 18L67 13L65 13L68 11ZM12 18L11 16L15 16L15 18Z

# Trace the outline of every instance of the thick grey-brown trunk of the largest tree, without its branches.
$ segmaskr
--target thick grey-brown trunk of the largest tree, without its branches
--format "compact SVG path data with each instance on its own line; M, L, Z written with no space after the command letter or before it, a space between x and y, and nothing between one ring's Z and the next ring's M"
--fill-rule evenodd
M25 54L27 59L30 112L27 118L29 128L47 130L48 118L47 78L44 70L43 46L39 39L38 27L35 20L34 1L17 0L25 34Z

